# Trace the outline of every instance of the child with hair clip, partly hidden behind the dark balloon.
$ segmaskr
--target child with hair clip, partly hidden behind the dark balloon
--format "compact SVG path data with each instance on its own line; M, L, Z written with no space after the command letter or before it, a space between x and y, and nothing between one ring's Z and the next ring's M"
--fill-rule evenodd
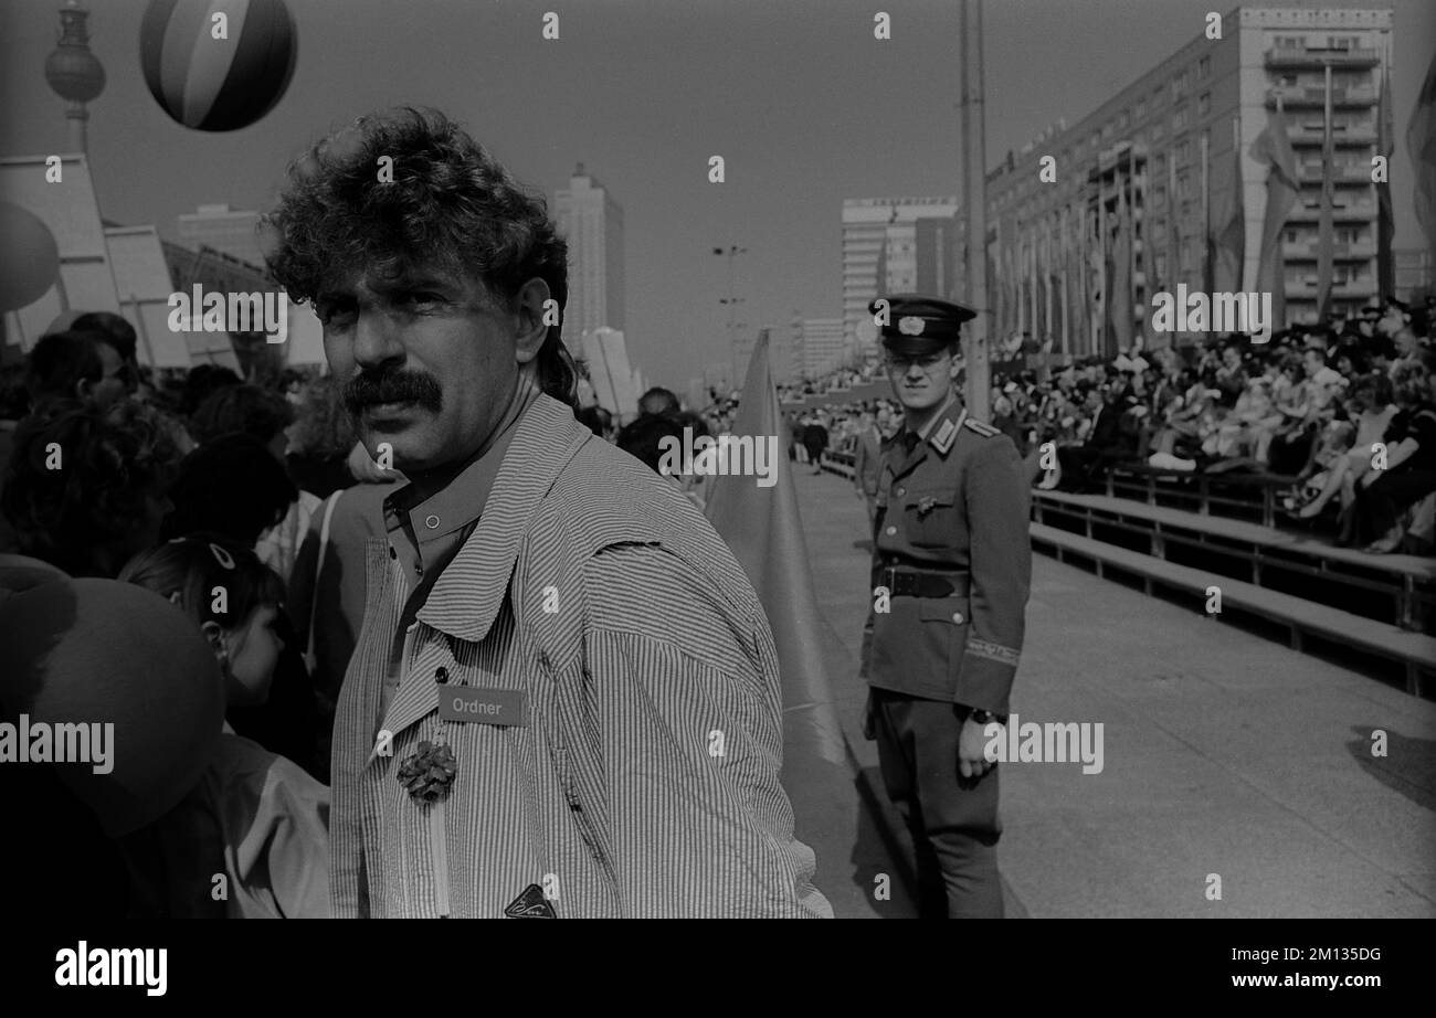
M228 706L261 704L279 660L283 586L248 548L182 537L136 556L121 580L154 590L205 636ZM217 820L231 917L329 915L329 790L228 724L204 778L167 817L174 839ZM162 840L162 839L161 839Z

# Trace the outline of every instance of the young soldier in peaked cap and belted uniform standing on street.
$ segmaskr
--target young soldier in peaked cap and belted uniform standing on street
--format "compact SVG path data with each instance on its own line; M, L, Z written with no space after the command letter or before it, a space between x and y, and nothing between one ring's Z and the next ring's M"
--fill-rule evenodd
M922 915L1001 917L998 774L984 750L988 725L1007 722L1022 649L1028 492L1012 439L968 416L954 385L975 312L886 300L886 314L872 310L905 421L882 452L864 734L912 831Z

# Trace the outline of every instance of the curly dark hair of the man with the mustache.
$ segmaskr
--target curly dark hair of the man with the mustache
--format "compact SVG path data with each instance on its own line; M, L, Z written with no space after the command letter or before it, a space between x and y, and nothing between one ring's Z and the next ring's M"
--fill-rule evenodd
M392 182L378 179L382 157L393 161ZM544 198L438 111L360 116L294 159L287 175L260 230L269 271L290 300L313 302L355 274L399 280L424 264L478 276L510 310L534 277L560 309L567 303L569 247ZM537 363L543 391L576 406L561 324L549 326Z

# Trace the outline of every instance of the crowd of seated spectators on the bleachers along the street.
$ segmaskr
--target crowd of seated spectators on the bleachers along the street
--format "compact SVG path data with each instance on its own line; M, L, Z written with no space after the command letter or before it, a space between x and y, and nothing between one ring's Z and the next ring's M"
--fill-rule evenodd
M997 372L989 422L1017 444L1037 487L1104 490L1119 465L1261 474L1279 485L1292 524L1344 546L1426 554L1436 528L1433 314L1430 299L1391 299L1268 342L1213 336ZM1015 340L1001 350L1050 346ZM885 432L880 421L886 431L900 424L889 399L844 402L840 380L850 379L806 383L833 401L787 415L794 458L854 454L862 435Z

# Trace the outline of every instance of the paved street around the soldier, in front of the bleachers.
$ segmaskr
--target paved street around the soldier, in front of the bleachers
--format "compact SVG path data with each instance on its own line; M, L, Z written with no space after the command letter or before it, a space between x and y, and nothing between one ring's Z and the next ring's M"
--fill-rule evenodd
M794 474L844 732L880 790L859 735L866 513L843 478ZM1436 916L1436 704L1200 607L1034 556L1012 708L1101 722L1104 768L1002 764L1008 913ZM1374 729L1384 758L1371 755ZM806 827L800 807L800 836L837 913L910 915L906 897L870 900L885 826L829 808L826 826ZM857 843L841 860L824 851L844 836L836 816ZM1208 899L1209 874L1221 900Z

